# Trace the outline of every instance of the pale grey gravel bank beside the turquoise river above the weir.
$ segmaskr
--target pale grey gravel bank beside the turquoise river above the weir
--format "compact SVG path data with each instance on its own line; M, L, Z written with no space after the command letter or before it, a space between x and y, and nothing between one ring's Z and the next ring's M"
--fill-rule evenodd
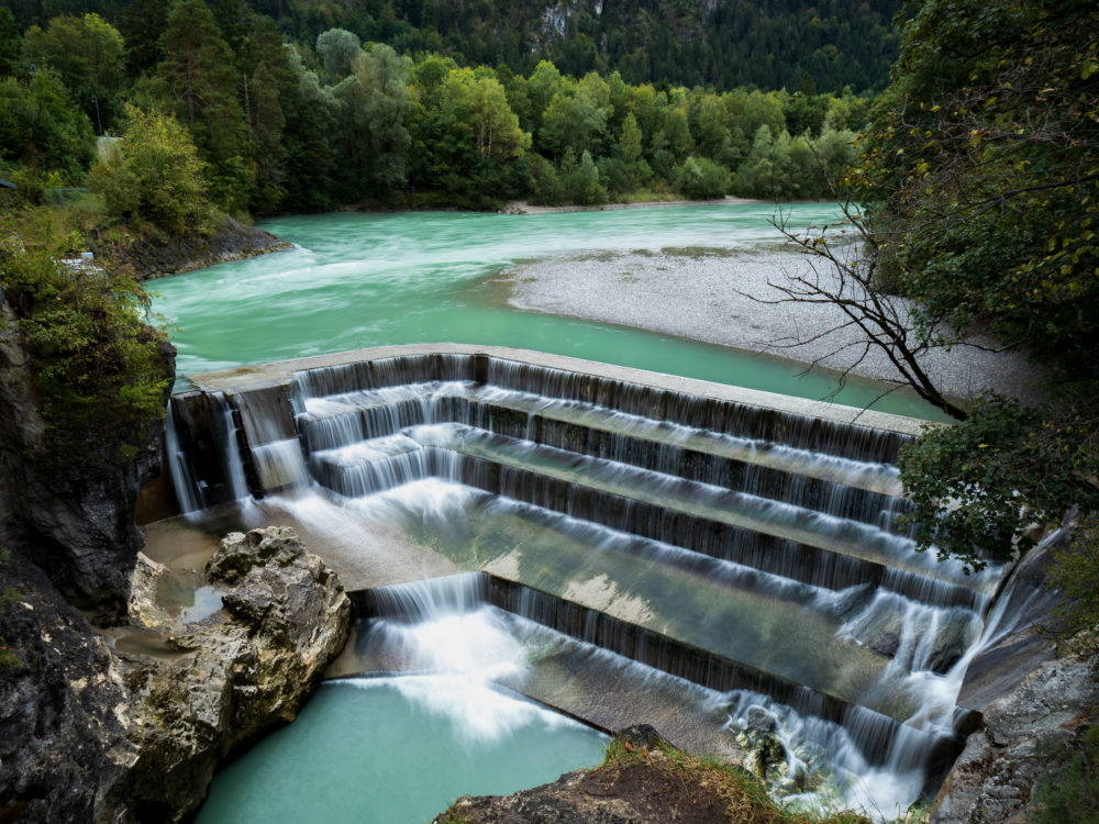
M666 249L546 259L504 272L501 282L508 303L517 309L620 323L850 369L867 378L896 379L892 365L876 348L855 363L863 354L858 330L829 332L846 320L839 309L761 303L745 297L779 298L770 283L808 269L804 257L775 244L751 250ZM974 347L931 352L923 367L956 397L991 389L1033 398L1031 385L1039 377L1020 353Z

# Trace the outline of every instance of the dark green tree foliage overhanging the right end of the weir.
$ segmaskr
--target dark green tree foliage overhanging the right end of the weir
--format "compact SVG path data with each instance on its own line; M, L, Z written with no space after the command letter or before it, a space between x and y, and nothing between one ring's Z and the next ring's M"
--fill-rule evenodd
M918 339L979 327L1048 369L1043 407L985 399L902 453L918 538L974 564L1099 504L1097 29L1083 0L921 3L848 178Z

